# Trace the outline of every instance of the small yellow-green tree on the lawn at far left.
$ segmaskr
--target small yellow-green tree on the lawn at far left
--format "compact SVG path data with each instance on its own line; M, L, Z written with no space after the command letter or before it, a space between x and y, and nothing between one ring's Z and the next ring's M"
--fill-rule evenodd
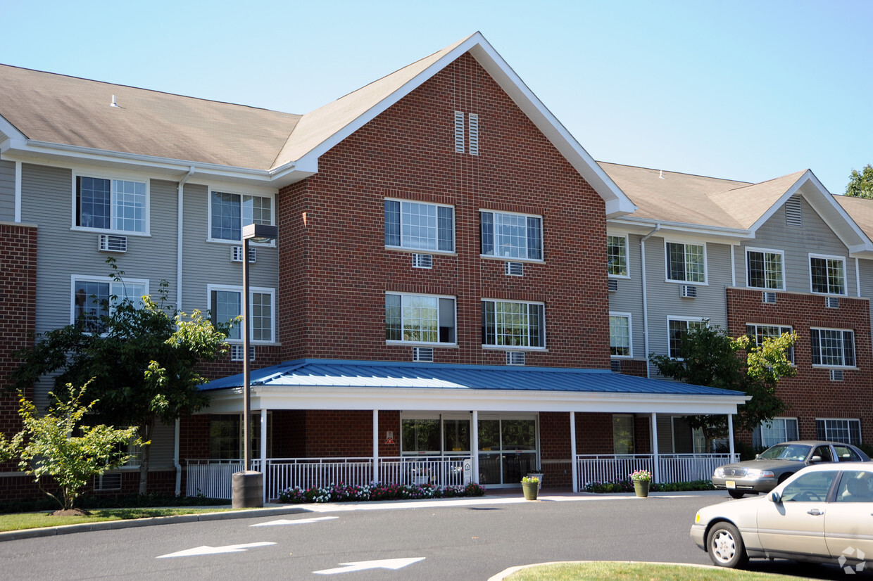
M83 426L86 414L97 404L96 400L82 403L86 388L66 386L67 400L49 393L54 403L42 415L21 394L18 414L24 427L11 440L0 434L0 461L17 457L18 467L34 476L39 489L58 501L62 510L74 509L82 489L94 476L129 460L128 445L142 444L135 427ZM59 498L44 488L48 478L60 487Z

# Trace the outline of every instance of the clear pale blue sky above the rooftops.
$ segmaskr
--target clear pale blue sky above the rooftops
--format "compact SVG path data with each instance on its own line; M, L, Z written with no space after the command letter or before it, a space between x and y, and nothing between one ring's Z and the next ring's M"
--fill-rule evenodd
M595 159L873 163L873 2L0 0L0 63L306 113L481 31Z

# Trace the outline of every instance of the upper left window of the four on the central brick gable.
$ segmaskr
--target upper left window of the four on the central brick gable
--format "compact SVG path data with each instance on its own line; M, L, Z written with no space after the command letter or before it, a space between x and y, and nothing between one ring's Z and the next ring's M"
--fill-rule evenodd
M385 201L385 245L455 251L455 210L423 202Z

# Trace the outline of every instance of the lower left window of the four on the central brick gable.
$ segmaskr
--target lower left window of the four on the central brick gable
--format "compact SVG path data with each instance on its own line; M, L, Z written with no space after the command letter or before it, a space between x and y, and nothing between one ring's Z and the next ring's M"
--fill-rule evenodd
M388 343L455 345L455 297L385 294L385 339Z

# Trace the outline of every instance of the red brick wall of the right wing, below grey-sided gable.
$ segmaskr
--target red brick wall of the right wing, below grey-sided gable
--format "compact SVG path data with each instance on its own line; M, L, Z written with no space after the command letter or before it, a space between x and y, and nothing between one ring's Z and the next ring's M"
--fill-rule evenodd
M870 302L866 298L840 297L838 309L825 307L825 297L777 292L776 304L763 304L760 291L727 289L730 333L746 332L746 324L790 325L797 333L794 363L797 375L781 379L776 393L788 405L786 417L796 417L801 439L815 438L815 418L861 420L863 441L873 441L873 348L870 345ZM831 381L828 369L812 366L809 328L855 331L856 369L843 372L842 381ZM751 441L748 434L743 441Z

